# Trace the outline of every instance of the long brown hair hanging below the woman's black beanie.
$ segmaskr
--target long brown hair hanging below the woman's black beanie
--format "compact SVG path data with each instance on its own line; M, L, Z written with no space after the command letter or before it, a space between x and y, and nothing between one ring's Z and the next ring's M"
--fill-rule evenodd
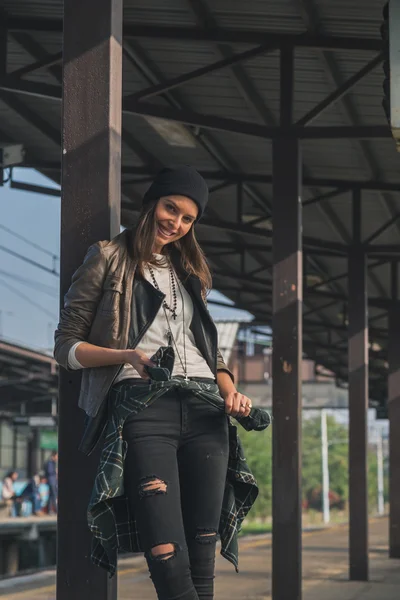
M139 273L144 275L143 269L146 263L159 265L160 261L153 256L153 245L156 237L157 223L154 216L157 202L150 206L144 206L139 215L139 221L135 228L133 238L133 253L137 261ZM189 229L186 235L175 242L166 244L163 248L163 254L168 256L171 261L175 258L179 260L179 266L189 275L195 275L200 279L202 295L205 299L212 286L212 277L207 264L207 259L201 249L194 231L194 227Z

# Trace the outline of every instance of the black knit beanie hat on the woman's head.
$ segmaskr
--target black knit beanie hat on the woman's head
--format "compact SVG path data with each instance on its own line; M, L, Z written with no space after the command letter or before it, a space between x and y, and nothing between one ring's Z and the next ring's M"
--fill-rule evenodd
M165 167L154 179L143 197L143 205L163 196L187 196L199 208L198 221L208 202L208 187L203 177L194 167Z

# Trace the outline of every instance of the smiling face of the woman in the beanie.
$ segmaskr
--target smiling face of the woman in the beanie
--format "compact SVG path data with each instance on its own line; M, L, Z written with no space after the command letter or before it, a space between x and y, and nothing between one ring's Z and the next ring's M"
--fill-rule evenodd
M157 224L153 252L161 253L166 244L187 234L197 218L197 204L186 196L165 196L157 203L154 218Z

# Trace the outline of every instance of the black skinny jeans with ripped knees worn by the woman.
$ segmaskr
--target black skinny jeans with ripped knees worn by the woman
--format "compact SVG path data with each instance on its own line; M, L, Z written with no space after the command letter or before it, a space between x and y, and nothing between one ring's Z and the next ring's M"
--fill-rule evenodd
M123 437L125 493L158 599L213 600L229 452L226 415L182 389L128 417ZM155 556L152 548L163 544L174 552Z

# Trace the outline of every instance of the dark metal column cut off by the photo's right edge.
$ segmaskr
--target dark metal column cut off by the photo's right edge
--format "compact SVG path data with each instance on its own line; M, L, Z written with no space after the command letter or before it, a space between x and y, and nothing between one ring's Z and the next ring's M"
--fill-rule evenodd
M398 264L391 264L392 304L389 309L389 556L400 558L400 301Z

